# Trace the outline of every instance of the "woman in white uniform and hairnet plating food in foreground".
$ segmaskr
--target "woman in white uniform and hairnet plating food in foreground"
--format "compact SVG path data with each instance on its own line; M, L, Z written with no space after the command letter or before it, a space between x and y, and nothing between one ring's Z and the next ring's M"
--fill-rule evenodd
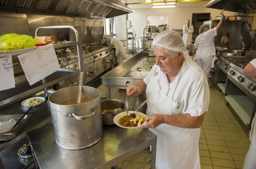
M126 88L128 96L146 92L147 123L158 135L158 169L200 169L199 136L210 92L203 70L189 59L176 31L155 36L155 65L136 86Z

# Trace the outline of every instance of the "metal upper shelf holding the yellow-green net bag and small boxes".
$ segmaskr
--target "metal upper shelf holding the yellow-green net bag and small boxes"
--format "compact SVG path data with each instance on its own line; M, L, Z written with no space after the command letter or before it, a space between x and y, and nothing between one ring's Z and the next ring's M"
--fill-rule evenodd
M81 41L79 42L75 42L75 41L68 41L66 43L60 43L60 44L53 44L54 49L58 49L58 48L62 48L62 47L70 47L70 46L75 46L78 44L82 44ZM7 53L11 53L11 56L16 56L16 55L21 55L23 53L32 51L33 49L37 49L38 47L32 47L32 48L27 48L27 49L14 49L12 51L3 51L0 52L0 54L7 54Z

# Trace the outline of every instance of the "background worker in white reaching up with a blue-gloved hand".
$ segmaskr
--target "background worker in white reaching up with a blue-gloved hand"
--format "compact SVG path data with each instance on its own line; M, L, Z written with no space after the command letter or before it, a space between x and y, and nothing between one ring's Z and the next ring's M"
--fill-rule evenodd
M217 27L210 29L208 24L203 24L199 28L199 36L197 36L194 46L197 48L196 52L196 63L203 69L206 78L209 78L210 69L213 62L213 57L216 54L214 37L217 36L217 31L219 31L222 26L222 22L225 16L222 16Z

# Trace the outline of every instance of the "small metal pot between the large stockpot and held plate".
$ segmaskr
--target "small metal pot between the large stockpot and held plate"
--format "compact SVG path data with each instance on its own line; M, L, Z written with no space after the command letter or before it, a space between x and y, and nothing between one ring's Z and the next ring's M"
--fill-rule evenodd
M124 103L120 100L104 100L101 102L101 113L104 125L114 125L114 116L123 112Z

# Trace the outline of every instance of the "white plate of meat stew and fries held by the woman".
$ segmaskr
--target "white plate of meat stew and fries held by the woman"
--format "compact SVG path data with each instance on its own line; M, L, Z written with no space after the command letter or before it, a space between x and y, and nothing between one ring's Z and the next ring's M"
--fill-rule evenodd
M141 127L146 124L146 115L139 111L129 111L127 114L126 111L117 114L114 116L114 123L119 127L126 129L134 129Z

